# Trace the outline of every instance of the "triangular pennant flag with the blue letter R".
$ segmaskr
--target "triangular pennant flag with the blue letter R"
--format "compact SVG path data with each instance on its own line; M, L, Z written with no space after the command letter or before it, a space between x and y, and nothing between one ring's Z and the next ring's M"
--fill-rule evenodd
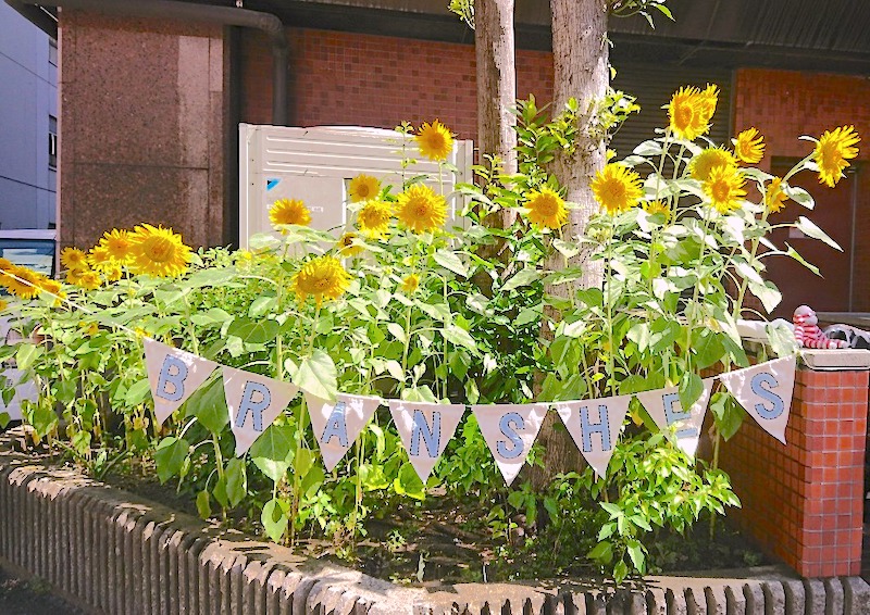
M229 427L236 438L236 456L240 457L287 407L299 389L289 382L244 369L224 366L222 373Z

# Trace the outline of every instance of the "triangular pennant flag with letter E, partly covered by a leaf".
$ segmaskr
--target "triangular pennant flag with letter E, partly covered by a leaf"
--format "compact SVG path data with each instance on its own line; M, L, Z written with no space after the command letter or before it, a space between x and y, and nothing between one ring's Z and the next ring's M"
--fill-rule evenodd
M659 429L691 457L694 457L695 451L698 450L698 438L704 425L704 415L707 414L707 402L710 401L713 379L707 378L703 382L704 391L688 412L684 412L680 405L678 387L635 393Z

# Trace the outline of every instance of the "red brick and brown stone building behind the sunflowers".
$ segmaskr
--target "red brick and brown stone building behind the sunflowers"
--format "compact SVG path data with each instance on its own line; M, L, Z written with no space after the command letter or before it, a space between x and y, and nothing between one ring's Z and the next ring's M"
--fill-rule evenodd
M89 244L105 228L140 222L172 225L198 244L234 242L239 122L390 128L437 117L475 137L473 33L447 0L246 0L244 9L228 0L7 1L59 30L63 244ZM721 86L713 137L726 141L756 126L768 142L766 170L806 155L811 146L800 135L854 124L863 136L854 171L835 190L803 178L818 202L810 217L844 253L778 238L825 276L771 265L790 306L870 311L866 4L671 0L675 23L659 16L655 30L639 18L611 20L616 85L644 108L622 130L622 155L663 124L660 105L686 83ZM551 96L548 24L546 0L518 0L520 98ZM276 58L286 63L283 75ZM806 213L798 209L781 215Z

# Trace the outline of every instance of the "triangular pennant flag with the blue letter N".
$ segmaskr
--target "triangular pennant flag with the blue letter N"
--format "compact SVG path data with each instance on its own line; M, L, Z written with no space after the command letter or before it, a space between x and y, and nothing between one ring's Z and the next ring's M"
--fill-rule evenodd
M389 400L389 412L417 475L425 485L465 414L462 404Z

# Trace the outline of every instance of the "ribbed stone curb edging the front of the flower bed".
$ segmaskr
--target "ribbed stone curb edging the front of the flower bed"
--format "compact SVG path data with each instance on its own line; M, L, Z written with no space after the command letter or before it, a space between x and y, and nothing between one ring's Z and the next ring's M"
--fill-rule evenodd
M781 568L648 577L633 589L398 587L48 468L11 442L0 437L0 562L91 613L870 615L870 586L860 577L800 579Z

